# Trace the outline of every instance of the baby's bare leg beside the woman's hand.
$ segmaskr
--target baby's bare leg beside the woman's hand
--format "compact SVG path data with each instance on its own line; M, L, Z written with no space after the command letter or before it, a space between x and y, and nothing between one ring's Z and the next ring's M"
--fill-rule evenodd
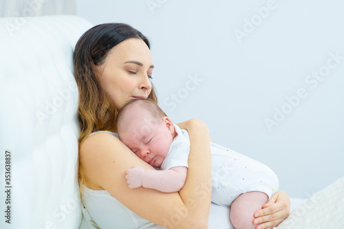
M230 222L235 229L255 228L253 216L257 210L268 201L268 195L265 193L252 191L243 193L237 197L230 206Z

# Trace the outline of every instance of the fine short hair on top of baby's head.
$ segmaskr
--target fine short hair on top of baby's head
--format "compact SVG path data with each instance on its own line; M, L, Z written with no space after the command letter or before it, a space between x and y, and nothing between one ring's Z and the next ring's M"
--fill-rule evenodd
M153 116L156 119L164 118L166 113L162 111L162 109L156 105L156 103L149 99L149 98L133 98L131 100L128 100L125 105L118 111L118 116L116 120L116 124L120 122L122 119L122 116L125 115L125 111L127 111L129 108L133 106L140 106L140 109L145 109L146 111L149 111L151 113L151 116Z

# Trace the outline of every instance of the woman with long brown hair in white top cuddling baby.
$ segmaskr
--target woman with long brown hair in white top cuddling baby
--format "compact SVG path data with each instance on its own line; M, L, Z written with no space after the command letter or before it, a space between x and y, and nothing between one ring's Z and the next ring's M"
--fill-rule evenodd
M211 152L208 128L201 120L178 124L189 131L191 140L188 175L179 193L127 186L127 168L139 165L154 169L116 138L115 125L118 110L127 100L151 98L157 102L149 48L145 36L122 23L97 25L76 44L74 76L79 90L83 204L100 228L160 228L155 224L208 228ZM261 223L260 228L277 226L289 215L289 206L288 195L276 193L256 212L255 224Z

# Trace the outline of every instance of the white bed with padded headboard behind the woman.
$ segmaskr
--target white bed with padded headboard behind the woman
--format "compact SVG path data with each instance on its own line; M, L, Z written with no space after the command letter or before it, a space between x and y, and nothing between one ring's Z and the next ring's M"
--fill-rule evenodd
M75 16L0 19L0 228L79 228L90 220L78 197L72 53L91 27ZM344 178L305 202L292 199L296 209L278 228L344 228L343 186ZM209 228L232 228L228 214L212 204Z

